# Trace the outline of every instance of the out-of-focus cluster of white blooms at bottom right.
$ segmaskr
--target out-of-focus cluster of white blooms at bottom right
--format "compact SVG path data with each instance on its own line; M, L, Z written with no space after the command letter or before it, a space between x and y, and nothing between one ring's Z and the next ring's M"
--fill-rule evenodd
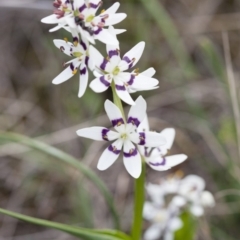
M146 240L174 239L174 232L183 226L181 213L187 211L200 217L204 208L215 205L213 195L204 190L205 182L197 175L183 179L174 176L160 185L148 184L146 188L151 202L145 202L143 216L152 222L145 232Z

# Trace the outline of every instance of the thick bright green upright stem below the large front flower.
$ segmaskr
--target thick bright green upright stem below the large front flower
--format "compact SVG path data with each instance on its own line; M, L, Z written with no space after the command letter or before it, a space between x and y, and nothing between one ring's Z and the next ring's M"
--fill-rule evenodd
M143 205L145 200L145 174L146 174L145 161L142 159L142 173L138 179L135 180L134 188L134 215L131 236L133 240L141 239L142 235L142 215Z

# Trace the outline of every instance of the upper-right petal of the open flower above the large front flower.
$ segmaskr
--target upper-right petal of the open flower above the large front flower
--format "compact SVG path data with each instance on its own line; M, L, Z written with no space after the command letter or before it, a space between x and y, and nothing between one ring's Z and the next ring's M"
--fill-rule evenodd
M139 42L123 56L122 61L118 65L121 71L130 69L137 64L140 57L142 56L144 47L145 42Z

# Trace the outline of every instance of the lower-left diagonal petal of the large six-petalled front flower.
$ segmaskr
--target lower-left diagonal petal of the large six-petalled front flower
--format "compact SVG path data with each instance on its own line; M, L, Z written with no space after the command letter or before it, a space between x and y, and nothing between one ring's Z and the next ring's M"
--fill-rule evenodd
M98 161L97 168L99 170L106 170L117 160L122 149L122 144L122 140L118 139L104 150Z

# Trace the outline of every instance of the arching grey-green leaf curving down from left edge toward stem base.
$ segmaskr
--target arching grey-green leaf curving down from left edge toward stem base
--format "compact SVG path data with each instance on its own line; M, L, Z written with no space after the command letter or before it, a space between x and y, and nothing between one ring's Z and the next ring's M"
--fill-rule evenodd
M103 194L113 216L115 228L119 229L118 214L114 207L112 196L108 191L106 185L90 168L82 164L78 159L48 144L16 133L0 132L0 140L20 143L27 147L44 152L52 157L61 160L62 162L71 165L73 168L80 170L80 172L83 173L89 180L91 180Z

